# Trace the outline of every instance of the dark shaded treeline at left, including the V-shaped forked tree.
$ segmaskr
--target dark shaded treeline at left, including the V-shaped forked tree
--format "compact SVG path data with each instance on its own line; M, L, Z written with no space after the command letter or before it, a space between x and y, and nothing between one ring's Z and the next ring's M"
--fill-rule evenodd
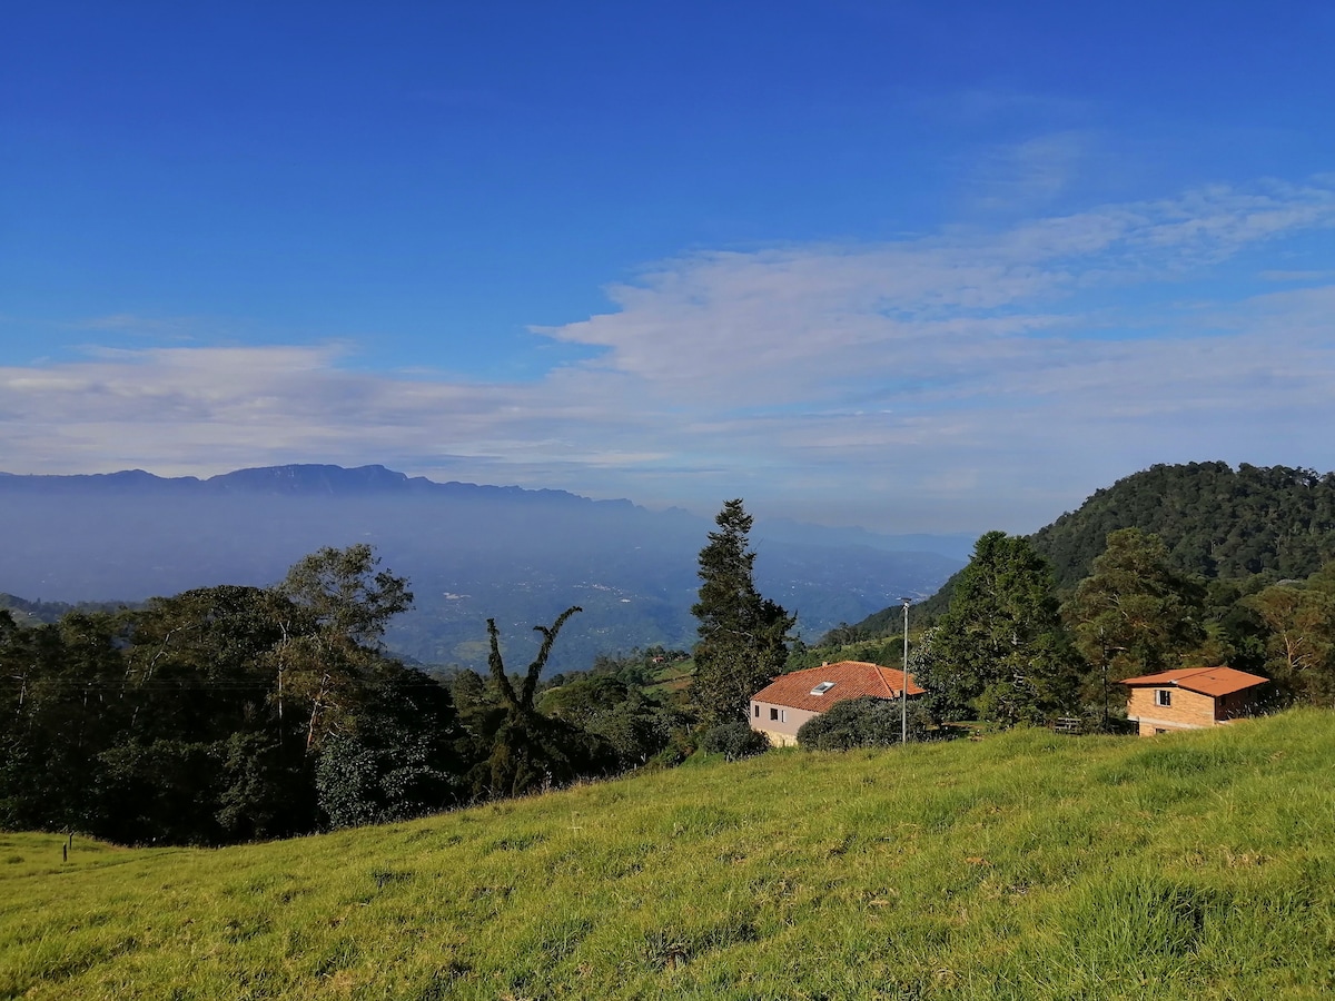
M0 826L121 844L227 844L392 821L689 753L645 661L539 675L567 610L511 675L390 657L403 578L326 549L271 589L222 586L20 625L0 611ZM674 741L677 747L674 749Z

